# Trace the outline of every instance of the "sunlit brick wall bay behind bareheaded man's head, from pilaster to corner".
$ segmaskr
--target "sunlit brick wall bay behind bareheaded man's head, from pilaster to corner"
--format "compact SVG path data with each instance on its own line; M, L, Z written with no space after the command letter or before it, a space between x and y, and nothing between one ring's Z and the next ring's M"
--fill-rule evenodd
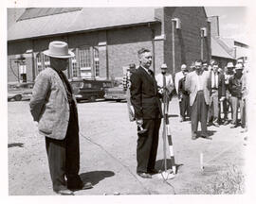
M155 43L155 67L158 66L159 60L162 61L163 44L152 42L152 26L133 26L107 31L109 72L110 76L122 76L123 66L130 63L138 65L137 51L144 47L153 53L153 43ZM156 33L159 33L160 26L153 26ZM152 70L154 67L152 65Z

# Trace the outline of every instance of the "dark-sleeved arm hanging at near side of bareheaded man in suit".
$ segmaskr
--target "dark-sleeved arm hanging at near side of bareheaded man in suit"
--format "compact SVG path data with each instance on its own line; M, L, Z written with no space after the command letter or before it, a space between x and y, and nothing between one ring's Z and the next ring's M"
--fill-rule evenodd
M142 81L140 76L134 73L131 76L131 103L135 109L135 117L141 119L143 117L142 113Z

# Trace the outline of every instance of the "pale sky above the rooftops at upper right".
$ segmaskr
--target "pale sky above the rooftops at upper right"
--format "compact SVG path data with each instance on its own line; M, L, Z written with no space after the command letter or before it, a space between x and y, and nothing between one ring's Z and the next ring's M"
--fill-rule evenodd
M206 12L208 16L219 16L220 36L248 42L246 7L206 7Z

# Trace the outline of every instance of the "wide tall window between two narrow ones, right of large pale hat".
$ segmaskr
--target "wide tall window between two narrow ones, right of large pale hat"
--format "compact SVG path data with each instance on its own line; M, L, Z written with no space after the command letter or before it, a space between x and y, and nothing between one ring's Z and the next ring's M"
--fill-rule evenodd
M92 77L91 50L89 46L79 49L79 59L81 76L85 78Z

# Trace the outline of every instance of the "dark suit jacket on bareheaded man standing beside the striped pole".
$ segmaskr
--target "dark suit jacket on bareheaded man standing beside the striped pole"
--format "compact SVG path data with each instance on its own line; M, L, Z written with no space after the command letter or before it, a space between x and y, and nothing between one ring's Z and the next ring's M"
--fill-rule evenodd
M155 119L162 116L154 73L149 71L151 75L144 68L138 67L131 76L131 103L136 118Z

